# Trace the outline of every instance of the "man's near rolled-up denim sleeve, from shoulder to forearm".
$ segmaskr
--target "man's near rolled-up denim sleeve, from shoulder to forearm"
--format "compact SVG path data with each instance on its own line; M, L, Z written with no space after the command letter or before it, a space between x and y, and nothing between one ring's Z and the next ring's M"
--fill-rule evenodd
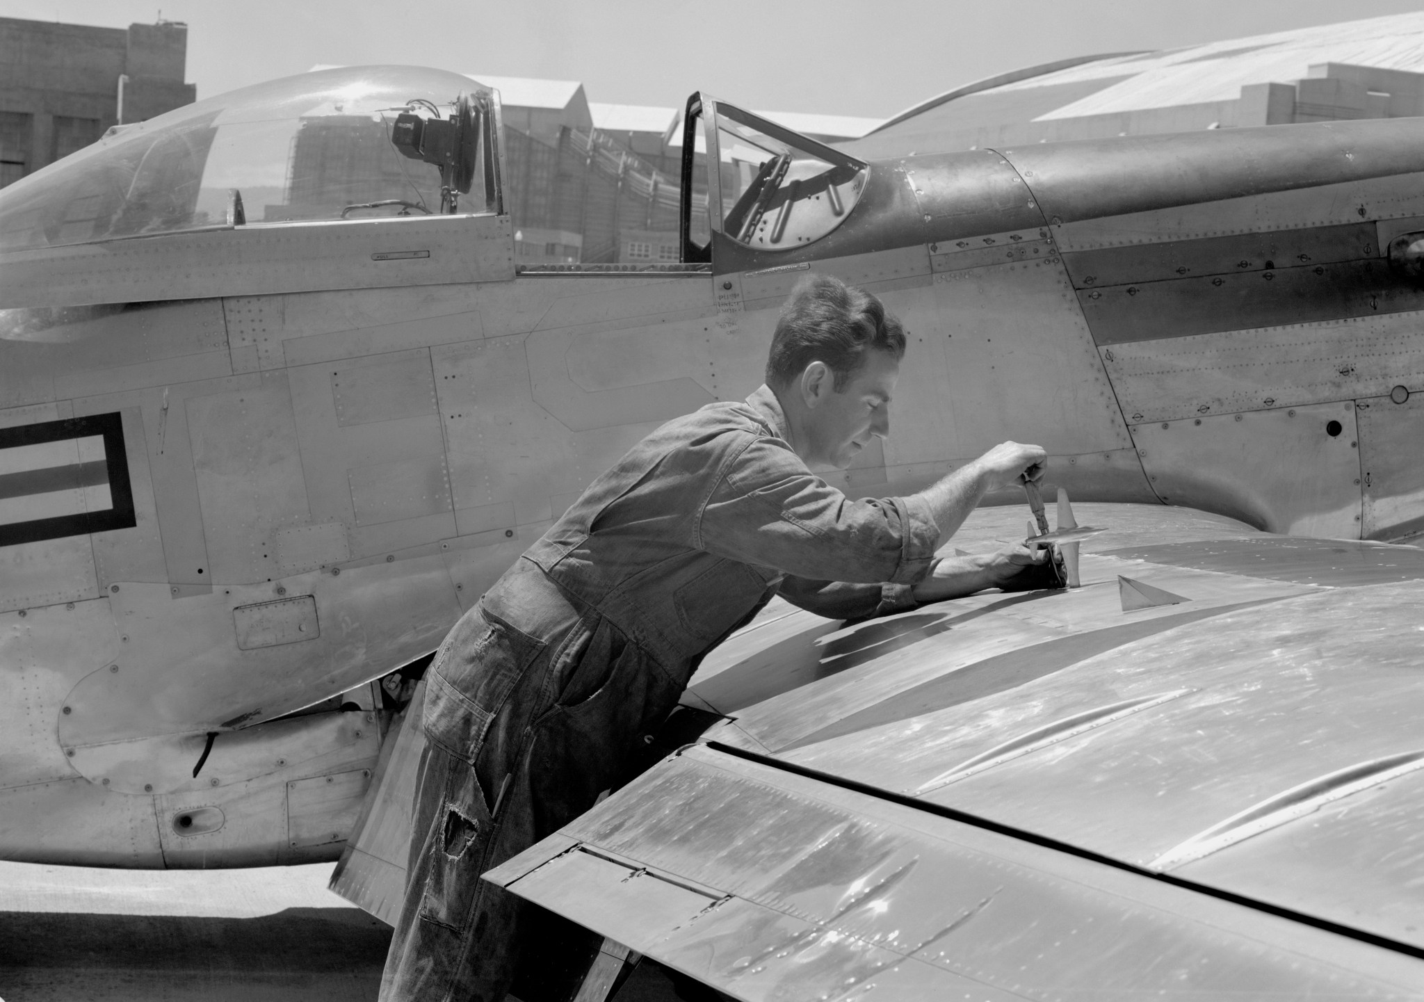
M748 436L695 520L695 545L820 582L913 585L940 529L924 501L852 501L779 438Z

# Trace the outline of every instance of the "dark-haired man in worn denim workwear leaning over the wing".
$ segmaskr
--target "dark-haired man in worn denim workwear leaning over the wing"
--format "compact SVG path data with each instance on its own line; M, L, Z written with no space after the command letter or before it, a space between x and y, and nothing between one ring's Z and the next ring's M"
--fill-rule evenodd
M810 473L890 433L904 346L879 299L809 276L766 386L638 443L450 631L426 682L383 999L504 998L521 909L480 874L617 783L702 656L772 595L862 618L1052 582L1022 548L934 558L985 491L1042 477L1037 445L997 445L906 498L850 501Z

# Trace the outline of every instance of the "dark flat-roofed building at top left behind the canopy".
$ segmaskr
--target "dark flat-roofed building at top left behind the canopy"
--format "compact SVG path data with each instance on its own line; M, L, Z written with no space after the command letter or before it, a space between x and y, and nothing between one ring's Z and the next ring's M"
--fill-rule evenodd
M97 28L0 17L0 186L195 94L188 26Z

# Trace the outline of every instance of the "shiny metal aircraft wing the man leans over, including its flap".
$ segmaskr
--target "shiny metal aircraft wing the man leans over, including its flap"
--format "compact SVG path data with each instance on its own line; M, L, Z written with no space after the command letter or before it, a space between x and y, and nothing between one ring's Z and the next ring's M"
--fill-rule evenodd
M1424 996L1424 551L1079 508L1079 589L763 615L486 878L742 999Z

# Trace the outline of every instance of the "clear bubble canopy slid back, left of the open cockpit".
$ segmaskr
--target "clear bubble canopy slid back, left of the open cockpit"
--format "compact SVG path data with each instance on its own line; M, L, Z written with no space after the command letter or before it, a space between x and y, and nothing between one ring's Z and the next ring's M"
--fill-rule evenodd
M402 157L392 128L402 112L449 117L474 90L468 77L420 67L323 70L120 127L0 191L0 250L440 212L440 169Z

